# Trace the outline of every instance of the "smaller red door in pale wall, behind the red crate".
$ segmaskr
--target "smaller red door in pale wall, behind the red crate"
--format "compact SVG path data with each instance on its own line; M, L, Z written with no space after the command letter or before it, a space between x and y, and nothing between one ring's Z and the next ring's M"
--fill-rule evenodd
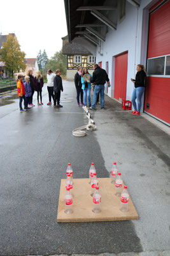
M117 100L126 100L128 53L115 57L115 93Z

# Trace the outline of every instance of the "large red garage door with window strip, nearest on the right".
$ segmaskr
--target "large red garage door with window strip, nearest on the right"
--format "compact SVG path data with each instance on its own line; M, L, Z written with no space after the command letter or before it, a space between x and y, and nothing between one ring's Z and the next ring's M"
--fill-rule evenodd
M150 10L145 112L170 125L170 1Z

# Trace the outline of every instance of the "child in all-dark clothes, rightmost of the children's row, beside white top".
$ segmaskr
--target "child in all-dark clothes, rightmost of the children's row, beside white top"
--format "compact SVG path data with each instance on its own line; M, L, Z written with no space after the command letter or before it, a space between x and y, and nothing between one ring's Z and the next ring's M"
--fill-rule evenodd
M54 108L62 108L60 105L60 91L63 92L62 87L62 78L60 77L60 70L56 70L56 76L53 79L53 92L54 92L54 99L53 99L53 107ZM56 106L56 100L57 100L57 106Z

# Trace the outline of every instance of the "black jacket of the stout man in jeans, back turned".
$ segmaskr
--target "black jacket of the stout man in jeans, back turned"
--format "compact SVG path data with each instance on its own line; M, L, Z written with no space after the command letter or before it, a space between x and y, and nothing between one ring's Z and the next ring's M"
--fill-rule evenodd
M92 84L105 84L106 81L110 81L110 79L108 78L108 74L106 73L106 70L97 67L93 72L92 80L90 82Z

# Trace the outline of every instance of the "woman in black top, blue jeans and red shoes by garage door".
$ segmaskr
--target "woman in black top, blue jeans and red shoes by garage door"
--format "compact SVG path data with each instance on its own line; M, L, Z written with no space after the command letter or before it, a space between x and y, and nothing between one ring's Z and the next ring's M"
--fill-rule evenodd
M134 107L134 111L131 113L132 115L140 115L141 97L145 90L146 80L146 71L144 65L138 64L136 70L136 79L131 78L132 83L134 83L134 90L132 93L132 105ZM138 102L138 107L136 106L136 99Z

